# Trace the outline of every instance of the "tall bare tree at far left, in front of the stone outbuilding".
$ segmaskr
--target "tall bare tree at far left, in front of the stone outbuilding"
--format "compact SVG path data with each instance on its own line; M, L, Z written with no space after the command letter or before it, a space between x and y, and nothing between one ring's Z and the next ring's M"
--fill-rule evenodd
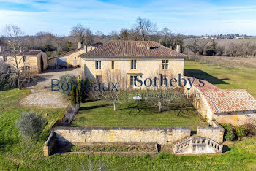
M15 75L17 75L18 89L21 90L20 76L20 62L23 58L18 58L18 53L22 48L20 37L23 36L23 31L18 26L10 25L5 28L5 37L9 39L10 50L12 52L12 65L15 67Z

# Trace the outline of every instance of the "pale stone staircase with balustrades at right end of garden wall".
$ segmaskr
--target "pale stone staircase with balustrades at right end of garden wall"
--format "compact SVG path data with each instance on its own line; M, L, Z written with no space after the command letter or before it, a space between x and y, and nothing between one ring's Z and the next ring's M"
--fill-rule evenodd
M185 137L173 143L176 154L222 153L223 145L207 137Z

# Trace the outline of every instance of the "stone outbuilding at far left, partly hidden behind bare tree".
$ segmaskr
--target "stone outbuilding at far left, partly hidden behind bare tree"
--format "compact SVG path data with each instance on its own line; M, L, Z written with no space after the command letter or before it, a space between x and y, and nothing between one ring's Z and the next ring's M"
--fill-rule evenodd
M7 64L14 64L14 58L10 50L0 52L0 58ZM20 69L41 72L48 67L48 57L41 50L23 51L17 55L17 58L18 62L20 62Z

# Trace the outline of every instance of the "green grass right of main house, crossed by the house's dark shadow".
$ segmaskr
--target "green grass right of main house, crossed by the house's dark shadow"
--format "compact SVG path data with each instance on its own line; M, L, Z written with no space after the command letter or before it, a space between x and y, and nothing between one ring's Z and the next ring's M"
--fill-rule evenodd
M256 69L226 69L198 61L186 61L184 67L184 75L202 78L222 89L246 89L256 98Z

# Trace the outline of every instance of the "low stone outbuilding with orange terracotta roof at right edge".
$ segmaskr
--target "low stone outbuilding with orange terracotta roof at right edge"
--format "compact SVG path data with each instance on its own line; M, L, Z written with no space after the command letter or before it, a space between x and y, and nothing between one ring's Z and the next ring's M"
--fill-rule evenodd
M198 86L197 81L188 91L193 105L208 122L231 123L233 126L253 123L256 119L256 100L246 90L223 90L203 80L205 85Z

